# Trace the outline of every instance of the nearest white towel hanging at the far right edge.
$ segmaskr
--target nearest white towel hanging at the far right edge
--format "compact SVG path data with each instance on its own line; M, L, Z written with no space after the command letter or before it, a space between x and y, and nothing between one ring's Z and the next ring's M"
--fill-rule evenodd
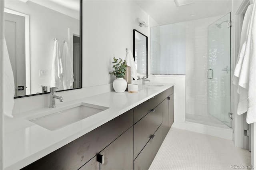
M252 16L247 39L246 53L249 55L249 81L248 81L248 111L246 122L256 122L256 3L253 5ZM246 57L246 55L244 56Z

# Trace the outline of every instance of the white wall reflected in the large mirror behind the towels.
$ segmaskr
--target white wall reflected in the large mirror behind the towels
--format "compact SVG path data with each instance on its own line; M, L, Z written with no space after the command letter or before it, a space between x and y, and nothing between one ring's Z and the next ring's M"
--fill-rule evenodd
M5 1L5 8L30 16L30 85L31 94L41 93L41 85L50 87L54 38L62 55L63 41L72 46L70 34L79 35L79 20L33 2ZM70 39L70 41L68 41ZM73 49L70 48L73 56ZM48 70L49 76L39 77L39 70Z

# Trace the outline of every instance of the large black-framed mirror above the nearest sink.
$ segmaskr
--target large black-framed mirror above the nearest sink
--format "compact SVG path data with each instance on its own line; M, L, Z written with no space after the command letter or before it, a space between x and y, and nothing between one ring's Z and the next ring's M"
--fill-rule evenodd
M70 78L67 86L63 71L57 91L82 88L82 0L7 0L4 12L4 34L14 73L14 99L49 93L55 40L60 58L65 53L66 63L69 62L68 75L74 79ZM17 23L21 23L19 28Z

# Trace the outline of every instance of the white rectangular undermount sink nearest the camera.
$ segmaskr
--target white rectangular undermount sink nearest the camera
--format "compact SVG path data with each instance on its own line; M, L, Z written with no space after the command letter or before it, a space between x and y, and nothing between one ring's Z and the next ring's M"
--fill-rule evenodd
M108 107L78 103L65 108L55 108L52 111L40 113L27 117L26 119L48 130L57 130L106 109L108 109Z

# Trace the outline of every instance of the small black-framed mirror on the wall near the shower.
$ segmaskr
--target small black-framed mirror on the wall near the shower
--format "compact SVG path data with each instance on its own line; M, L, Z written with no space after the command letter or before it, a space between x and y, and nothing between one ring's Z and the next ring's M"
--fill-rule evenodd
M138 79L148 78L148 37L133 30L133 57Z

